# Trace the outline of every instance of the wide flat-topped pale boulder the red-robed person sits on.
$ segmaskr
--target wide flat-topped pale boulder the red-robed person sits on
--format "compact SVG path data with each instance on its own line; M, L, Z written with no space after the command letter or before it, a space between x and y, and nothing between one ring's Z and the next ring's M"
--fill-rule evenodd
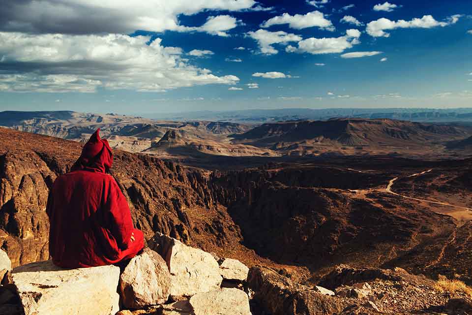
M25 315L115 315L119 311L119 267L61 269L52 261L12 271Z

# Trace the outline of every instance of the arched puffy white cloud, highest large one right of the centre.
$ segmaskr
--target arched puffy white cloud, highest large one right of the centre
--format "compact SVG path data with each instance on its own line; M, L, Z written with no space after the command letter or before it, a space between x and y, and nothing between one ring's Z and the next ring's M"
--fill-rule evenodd
M324 14L320 11L308 12L305 15L295 14L290 15L289 13L284 13L279 16L275 16L263 24L262 28L268 28L272 25L279 24L288 24L290 28L301 30L305 28L318 27L320 29L325 29L328 31L334 31L333 24L331 21L324 18Z

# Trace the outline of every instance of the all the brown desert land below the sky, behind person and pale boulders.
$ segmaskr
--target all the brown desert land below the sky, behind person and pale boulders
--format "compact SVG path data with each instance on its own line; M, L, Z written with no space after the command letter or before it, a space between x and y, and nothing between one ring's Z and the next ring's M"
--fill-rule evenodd
M438 284L472 284L470 126L75 112L3 112L0 125L0 239L13 267L48 259L48 190L99 127L136 227L251 268L257 280L241 289L252 314L437 314L470 299Z

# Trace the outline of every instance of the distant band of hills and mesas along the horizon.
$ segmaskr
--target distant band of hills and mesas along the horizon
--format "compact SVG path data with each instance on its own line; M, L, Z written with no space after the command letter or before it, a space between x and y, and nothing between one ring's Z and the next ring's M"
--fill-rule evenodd
M472 126L466 123L429 124L370 117L249 125L70 111L0 112L0 126L75 141L87 140L100 127L116 149L207 169L212 165L231 169L247 164L247 158L267 157L465 158L471 156L472 135Z

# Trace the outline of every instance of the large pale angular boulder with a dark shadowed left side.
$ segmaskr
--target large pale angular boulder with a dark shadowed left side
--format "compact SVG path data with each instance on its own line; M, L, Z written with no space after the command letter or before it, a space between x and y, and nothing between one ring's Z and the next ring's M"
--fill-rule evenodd
M155 234L148 246L166 261L171 274L171 296L188 297L220 288L223 278L211 254L161 233Z

